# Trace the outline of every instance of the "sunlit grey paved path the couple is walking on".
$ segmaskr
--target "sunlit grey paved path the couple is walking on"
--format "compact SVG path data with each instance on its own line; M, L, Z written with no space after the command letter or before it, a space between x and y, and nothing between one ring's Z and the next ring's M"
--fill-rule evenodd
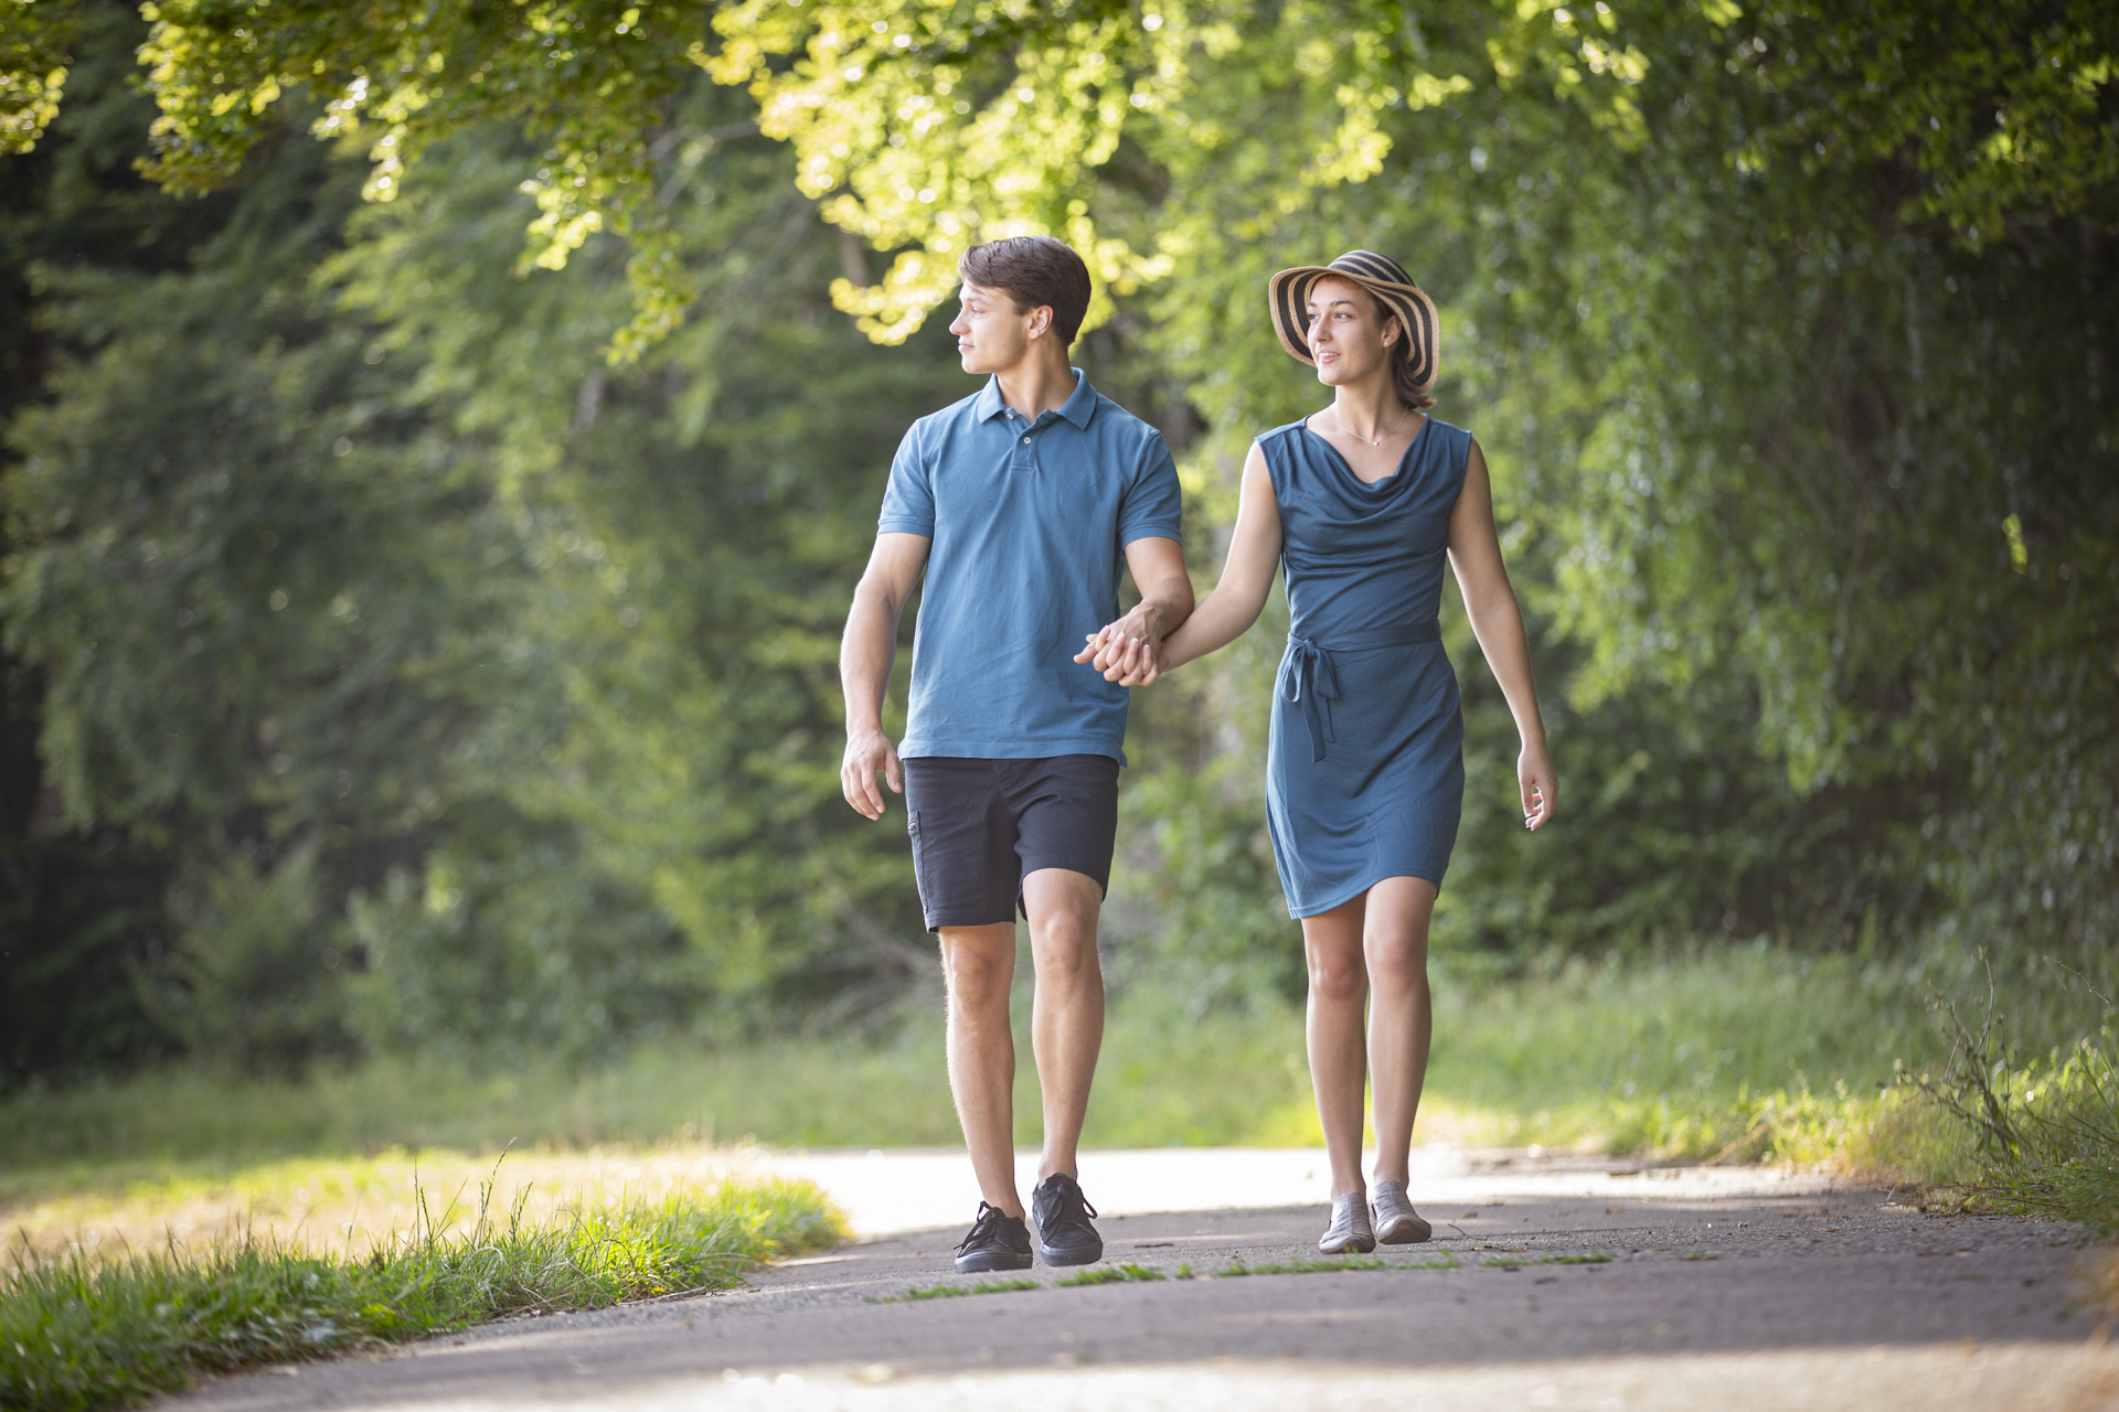
M1231 1274L1320 1264L1320 1154L1093 1154L1100 1268L1163 1279L1064 1287L1038 1268L1032 1289L907 1298L979 1283L947 1272L962 1156L786 1158L869 1238L737 1291L513 1321L167 1406L2119 1408L2119 1346L2077 1304L2089 1251L2072 1228L1935 1219L1748 1169L1420 1160L1439 1238L1379 1266Z

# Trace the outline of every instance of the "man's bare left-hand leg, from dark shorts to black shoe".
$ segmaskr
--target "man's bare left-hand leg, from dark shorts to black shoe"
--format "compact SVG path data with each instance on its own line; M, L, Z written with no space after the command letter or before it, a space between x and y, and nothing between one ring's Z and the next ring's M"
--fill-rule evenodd
M949 989L949 1094L964 1126L971 1171L985 1205L1023 1217L1015 1190L1015 923L943 927L941 974Z

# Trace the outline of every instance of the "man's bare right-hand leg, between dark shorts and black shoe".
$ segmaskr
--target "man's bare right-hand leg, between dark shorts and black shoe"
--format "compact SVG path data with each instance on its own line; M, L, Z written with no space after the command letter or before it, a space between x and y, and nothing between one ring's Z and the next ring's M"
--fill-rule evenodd
M1089 1084L1104 1046L1104 967L1096 955L1096 915L1104 889L1085 872L1038 868L1023 879L1036 993L1030 1048L1045 1101L1045 1156L1038 1181L1053 1173L1079 1179L1076 1149L1089 1114ZM992 1200L992 1198L987 1198Z

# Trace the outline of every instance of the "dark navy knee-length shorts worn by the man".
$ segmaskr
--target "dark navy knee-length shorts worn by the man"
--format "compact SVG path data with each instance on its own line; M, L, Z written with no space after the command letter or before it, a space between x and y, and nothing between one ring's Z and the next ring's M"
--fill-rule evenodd
M905 762L905 830L928 931L1013 923L1023 879L1066 868L1110 887L1119 836L1119 762L1049 760Z

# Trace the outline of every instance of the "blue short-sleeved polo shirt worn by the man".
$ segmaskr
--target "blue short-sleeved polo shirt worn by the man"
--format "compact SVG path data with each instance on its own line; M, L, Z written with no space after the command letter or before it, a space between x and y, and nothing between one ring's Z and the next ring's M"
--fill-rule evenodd
M1119 616L1125 546L1176 540L1178 510L1163 434L1081 368L1036 421L998 377L915 421L875 525L932 540L898 754L1125 764L1125 688L1074 654Z

